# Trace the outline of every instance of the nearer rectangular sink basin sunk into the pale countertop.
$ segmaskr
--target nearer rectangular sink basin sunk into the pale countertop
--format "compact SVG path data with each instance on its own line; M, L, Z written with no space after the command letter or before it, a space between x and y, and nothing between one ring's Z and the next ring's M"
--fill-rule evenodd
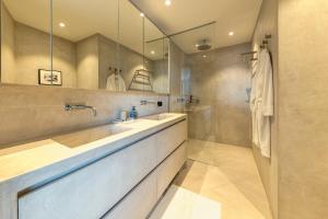
M79 146L83 146L92 141L118 135L131 129L132 128L121 127L118 125L105 125L56 136L51 138L51 140L69 148L77 148Z

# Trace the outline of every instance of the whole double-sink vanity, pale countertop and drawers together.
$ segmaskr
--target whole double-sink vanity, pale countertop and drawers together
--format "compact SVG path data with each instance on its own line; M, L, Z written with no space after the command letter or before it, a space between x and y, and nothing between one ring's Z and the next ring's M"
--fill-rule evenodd
M0 150L0 218L147 218L186 139L185 114L159 114Z

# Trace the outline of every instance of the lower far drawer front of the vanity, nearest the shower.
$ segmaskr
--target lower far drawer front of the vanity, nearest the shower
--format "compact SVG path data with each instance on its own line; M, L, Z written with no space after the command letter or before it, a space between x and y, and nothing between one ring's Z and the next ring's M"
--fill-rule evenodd
M184 143L157 168L157 198L162 196L186 159L186 143Z

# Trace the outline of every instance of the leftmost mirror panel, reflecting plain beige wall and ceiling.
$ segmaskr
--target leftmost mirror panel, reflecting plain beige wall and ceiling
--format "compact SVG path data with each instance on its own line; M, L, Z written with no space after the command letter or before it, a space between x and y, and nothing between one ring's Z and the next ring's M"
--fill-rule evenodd
M2 1L1 82L38 84L38 70L51 68L49 9L48 1Z

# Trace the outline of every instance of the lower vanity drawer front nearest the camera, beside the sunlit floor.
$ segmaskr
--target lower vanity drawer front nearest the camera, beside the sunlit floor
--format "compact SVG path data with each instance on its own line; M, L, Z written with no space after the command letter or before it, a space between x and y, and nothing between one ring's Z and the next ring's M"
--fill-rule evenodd
M144 219L156 204L156 172L149 175L104 219Z

